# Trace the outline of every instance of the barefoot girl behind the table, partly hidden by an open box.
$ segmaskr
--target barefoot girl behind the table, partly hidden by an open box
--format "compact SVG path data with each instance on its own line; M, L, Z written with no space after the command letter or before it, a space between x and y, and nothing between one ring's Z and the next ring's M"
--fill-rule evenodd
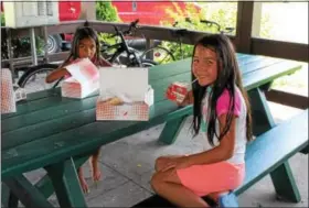
M89 26L78 28L74 34L72 48L64 63L46 77L46 83L53 83L62 78L67 78L71 74L64 68L78 58L89 58L96 66L111 66L100 56L99 41L96 31ZM93 179L99 180L102 175L98 167L99 149L92 155L90 166L93 169ZM78 168L78 178L85 193L88 193L88 186L83 175L82 166Z

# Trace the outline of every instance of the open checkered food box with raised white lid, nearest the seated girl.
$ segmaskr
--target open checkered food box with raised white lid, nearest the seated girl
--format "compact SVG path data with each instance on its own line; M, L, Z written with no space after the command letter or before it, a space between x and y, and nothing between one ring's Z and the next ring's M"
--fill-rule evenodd
M99 69L97 120L149 120L153 89L148 84L148 68Z

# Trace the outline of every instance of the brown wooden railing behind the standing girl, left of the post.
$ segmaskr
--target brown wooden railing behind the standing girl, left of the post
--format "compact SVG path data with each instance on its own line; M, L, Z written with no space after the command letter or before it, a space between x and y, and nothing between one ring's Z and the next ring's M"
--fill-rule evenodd
M1 28L1 33L7 33L8 41L13 37L23 37L23 36L45 36L46 34L60 34L60 33L74 33L76 28L83 26L86 20L78 20L78 21L68 21L62 22L57 25L42 25L35 28L22 28L22 29L12 29L12 28ZM103 21L87 21L89 26L94 28L97 32L103 33L114 33L115 29L114 25L117 25L120 30L127 30L129 23L115 23L115 22L103 22ZM177 42L178 41L178 30L179 28L164 28L164 26L152 26L152 25L142 25L139 24L139 28L136 32L137 37L146 37L147 43L151 43L151 40L160 40L160 41L170 41ZM31 32L31 33L30 33ZM206 34L205 32L201 31L191 31L183 29L181 41L183 44L194 44L196 40L201 36ZM234 40L231 37L232 41ZM46 40L46 39L45 39ZM46 44L46 43L45 43ZM9 45L9 44L8 44ZM148 44L148 47L151 45ZM45 59L50 62L56 62L66 56L67 53L57 53L57 54L47 54L45 53ZM36 52L32 51L32 56L29 57L21 57L21 58L11 58L11 59L2 59L1 64L11 63L14 65L15 62L31 64L32 61L38 63L42 62L44 57L36 57ZM34 63L32 63L34 64Z

